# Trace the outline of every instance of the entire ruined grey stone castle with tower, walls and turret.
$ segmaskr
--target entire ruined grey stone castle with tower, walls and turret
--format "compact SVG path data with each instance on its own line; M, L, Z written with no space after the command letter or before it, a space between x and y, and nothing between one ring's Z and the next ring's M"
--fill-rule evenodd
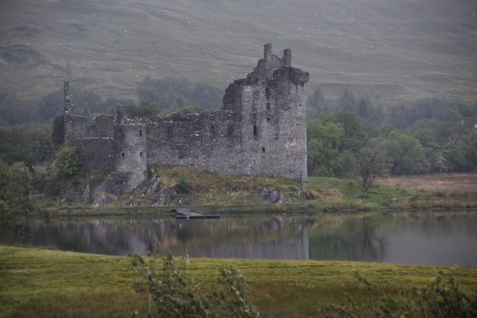
M309 74L291 67L265 45L264 58L247 78L230 84L220 111L181 116L126 118L99 115L91 124L73 114L65 81L65 113L53 125L55 149L76 146L90 171L112 173L133 189L150 164L189 166L218 174L265 175L306 180L305 83Z

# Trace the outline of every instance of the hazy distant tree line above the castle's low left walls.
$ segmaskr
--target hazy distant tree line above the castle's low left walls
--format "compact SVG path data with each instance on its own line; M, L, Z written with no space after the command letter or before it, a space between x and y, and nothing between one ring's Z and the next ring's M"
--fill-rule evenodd
M71 102L75 114L88 117L115 114L117 105L126 105L130 116L155 116L184 106L208 110L222 107L222 88L185 77L153 79L147 76L136 90L139 103L113 96L102 98L99 93L77 88L74 84L71 85ZM15 92L0 92L0 114L0 126L51 122L55 116L63 114L63 89L39 98L22 98Z

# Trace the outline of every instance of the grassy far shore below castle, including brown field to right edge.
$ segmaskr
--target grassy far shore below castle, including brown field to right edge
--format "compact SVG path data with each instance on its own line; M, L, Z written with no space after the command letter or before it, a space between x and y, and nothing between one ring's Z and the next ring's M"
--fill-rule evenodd
M361 186L353 180L326 177L309 177L305 183L306 203L299 194L299 182L260 176L215 175L186 167L151 167L153 179L145 181L139 192L116 197L102 208L94 208L92 202L77 205L77 200L66 202L58 210L56 203L49 202L49 208L57 216L97 216L97 215L156 215L173 214L177 201L186 205L201 206L205 213L242 212L315 212L315 211L369 211L378 209L432 209L432 208L477 208L477 191L462 192L454 187L455 182L440 182L447 187L439 191L429 191L420 187L400 187L408 183L392 182L393 178L382 180L373 186L365 198L361 198ZM473 182L475 174L453 174L459 182ZM441 178L442 177L442 178ZM403 178L403 177L399 177ZM419 179L409 176L413 183ZM421 183L448 180L447 175L423 176ZM165 206L154 207L159 194L148 194L154 182L159 180L161 193L182 193L182 196L166 198ZM388 182L388 184L383 184ZM272 186L277 192L285 193L284 202L270 204L260 198L264 187ZM442 187L442 185L441 185ZM159 189L157 189L159 191ZM186 193L186 194L184 194ZM167 200L170 198L171 200ZM82 201L82 199L80 200ZM48 205L45 202L45 205Z

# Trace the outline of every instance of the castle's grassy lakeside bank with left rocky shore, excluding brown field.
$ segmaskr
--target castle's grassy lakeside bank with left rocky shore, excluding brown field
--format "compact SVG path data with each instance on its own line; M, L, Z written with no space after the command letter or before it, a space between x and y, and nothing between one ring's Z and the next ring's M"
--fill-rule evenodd
M181 200L182 205L200 206L204 212L217 210L220 213L233 212L286 212L286 211L335 211L335 210L373 210L392 208L396 203L391 199L409 196L410 191L395 186L376 185L361 198L361 186L348 179L309 177L305 182L306 204L299 194L299 182L260 176L216 175L187 167L150 167L153 179L143 182L140 189L147 189L156 180L162 186L161 193L183 193L174 196L174 200L165 206L152 207L158 194L142 196L132 193L117 200L104 209L95 209L89 205L75 206L76 201L62 204L62 209L54 215L108 215L108 214L167 214ZM186 189L179 191L179 184L186 184ZM272 186L279 193L284 193L284 202L270 204L260 198L266 186ZM158 189L159 191L159 189ZM147 194L147 192L144 192ZM121 206L121 203L125 206ZM398 201L396 201L398 202ZM136 206L129 206L136 204ZM205 211L207 210L207 211Z

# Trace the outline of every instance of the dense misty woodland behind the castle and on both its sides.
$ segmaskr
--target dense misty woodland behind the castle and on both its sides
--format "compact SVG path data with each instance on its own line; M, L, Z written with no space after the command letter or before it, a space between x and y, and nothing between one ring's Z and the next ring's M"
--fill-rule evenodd
M147 77L137 96L140 102L134 104L72 91L76 113L90 117L114 114L117 104L126 104L130 117L151 118L172 111L217 109L221 104L219 89L185 78ZM24 175L27 192L56 195L81 179L81 159L73 158L71 149L56 155L51 151L51 122L62 112L62 101L61 91L36 101L0 95L0 160L6 164L3 168ZM353 178L363 169L374 175L477 170L477 104L423 98L384 105L371 94L357 97L350 90L330 100L317 88L308 99L307 112L309 175ZM65 171L68 160L78 169Z

